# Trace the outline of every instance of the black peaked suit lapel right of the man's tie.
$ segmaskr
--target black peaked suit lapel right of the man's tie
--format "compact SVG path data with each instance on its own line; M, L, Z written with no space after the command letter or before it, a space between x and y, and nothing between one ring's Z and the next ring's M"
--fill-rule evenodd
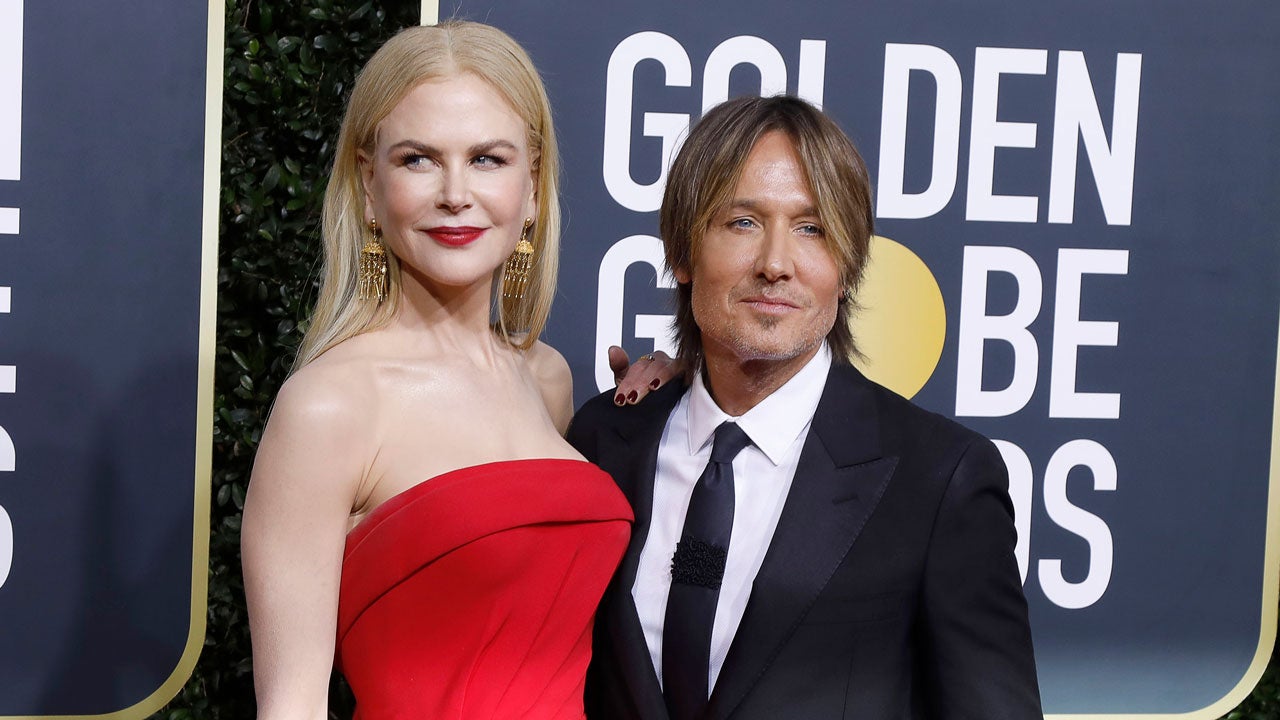
M876 510L897 466L881 456L877 418L868 380L833 365L708 720L727 717L755 685Z

